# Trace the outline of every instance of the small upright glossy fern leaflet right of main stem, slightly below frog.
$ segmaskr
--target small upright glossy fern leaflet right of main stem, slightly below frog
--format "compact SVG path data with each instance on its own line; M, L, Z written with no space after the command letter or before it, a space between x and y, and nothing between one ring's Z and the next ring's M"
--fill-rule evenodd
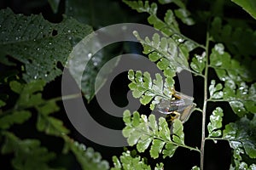
M212 115L210 116L210 122L207 125L209 137L221 136L221 130L219 128L222 127L223 116L223 110L220 107L217 107L214 111L212 111Z

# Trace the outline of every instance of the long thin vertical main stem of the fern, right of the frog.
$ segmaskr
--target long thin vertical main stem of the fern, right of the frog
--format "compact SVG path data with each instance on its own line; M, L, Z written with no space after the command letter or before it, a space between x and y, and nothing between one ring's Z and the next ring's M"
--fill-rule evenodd
M205 76L204 76L204 104L202 109L202 126L201 126L201 163L200 167L201 170L204 169L204 152L205 152L205 142L206 142L206 116L207 116L207 92L208 92L208 60L209 60L209 33L207 32L207 41L206 41L206 69L205 69Z

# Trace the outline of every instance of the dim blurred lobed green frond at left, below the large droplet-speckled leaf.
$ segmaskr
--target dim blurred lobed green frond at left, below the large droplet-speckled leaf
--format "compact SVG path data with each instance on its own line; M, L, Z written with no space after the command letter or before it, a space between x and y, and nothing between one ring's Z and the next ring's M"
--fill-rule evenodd
M44 85L45 82L43 80L32 81L27 84L15 81L10 82L10 88L20 94L16 107L22 109L35 108L38 111L38 131L55 136L67 134L69 130L63 126L63 122L53 116L49 116L49 114L59 111L59 107L56 105L55 100L42 99L40 92L43 91ZM8 128L14 123L25 122L30 116L30 111L16 111L12 115L4 116L3 121L5 123L3 123L3 128Z

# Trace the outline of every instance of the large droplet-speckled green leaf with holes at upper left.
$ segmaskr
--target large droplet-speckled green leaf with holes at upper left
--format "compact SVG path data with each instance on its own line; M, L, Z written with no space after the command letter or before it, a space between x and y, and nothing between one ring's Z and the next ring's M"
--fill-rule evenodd
M0 11L0 18L0 58L9 55L23 63L26 82L35 79L50 82L60 76L62 71L57 65L66 64L73 49L72 41L91 32L89 26L67 17L59 24L52 24L41 14L14 14L9 8Z

